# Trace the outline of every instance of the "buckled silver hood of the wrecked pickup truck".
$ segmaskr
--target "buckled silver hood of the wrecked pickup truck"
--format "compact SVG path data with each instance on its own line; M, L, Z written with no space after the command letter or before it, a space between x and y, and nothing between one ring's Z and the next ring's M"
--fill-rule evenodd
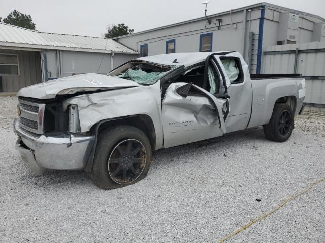
M52 99L55 98L56 95L136 86L140 85L131 80L96 73L88 73L63 77L44 83L27 86L20 89L17 96L31 97L36 99Z

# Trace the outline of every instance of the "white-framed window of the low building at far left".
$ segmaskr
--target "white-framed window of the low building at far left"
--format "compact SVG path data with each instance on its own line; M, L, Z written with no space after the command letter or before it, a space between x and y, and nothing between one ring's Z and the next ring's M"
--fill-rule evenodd
M0 76L19 75L18 54L0 53Z

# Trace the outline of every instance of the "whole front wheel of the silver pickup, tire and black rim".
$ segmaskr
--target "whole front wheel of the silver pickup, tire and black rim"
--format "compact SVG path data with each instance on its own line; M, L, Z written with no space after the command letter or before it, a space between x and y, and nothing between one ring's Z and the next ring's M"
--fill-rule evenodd
M151 153L149 139L140 129L131 126L108 128L98 137L90 178L104 190L137 183L149 171Z

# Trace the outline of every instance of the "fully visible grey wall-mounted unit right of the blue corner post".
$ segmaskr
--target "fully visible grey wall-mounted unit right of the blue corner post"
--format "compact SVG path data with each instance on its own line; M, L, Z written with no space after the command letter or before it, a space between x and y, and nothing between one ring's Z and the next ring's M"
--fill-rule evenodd
M281 13L278 31L278 45L295 44L298 41L299 15Z

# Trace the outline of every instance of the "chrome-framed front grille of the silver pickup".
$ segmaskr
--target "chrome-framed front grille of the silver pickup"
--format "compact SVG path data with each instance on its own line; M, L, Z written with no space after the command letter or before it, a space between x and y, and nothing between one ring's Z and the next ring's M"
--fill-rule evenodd
M19 99L19 125L36 134L43 134L43 115L45 104Z

